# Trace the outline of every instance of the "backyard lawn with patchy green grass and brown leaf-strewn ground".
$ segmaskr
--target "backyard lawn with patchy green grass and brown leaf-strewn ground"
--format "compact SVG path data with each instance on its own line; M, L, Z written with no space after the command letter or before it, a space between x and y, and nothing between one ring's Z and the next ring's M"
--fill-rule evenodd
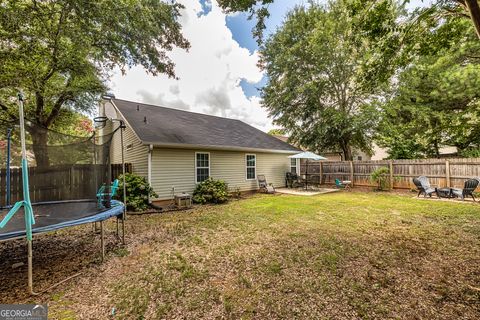
M37 287L82 271L38 298L52 318L480 316L480 205L411 194L257 195L132 216L127 227L127 247L110 235L103 264L91 226L36 241ZM4 245L3 261L12 252L23 246ZM2 301L32 301L24 287L8 287L24 286L24 271L2 275Z

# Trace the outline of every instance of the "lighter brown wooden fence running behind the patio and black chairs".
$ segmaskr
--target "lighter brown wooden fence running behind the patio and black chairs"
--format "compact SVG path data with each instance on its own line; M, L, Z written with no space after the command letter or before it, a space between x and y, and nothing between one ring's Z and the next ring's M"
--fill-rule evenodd
M480 158L415 159L377 161L309 161L309 179L320 184L335 184L335 179L350 180L353 186L376 186L370 180L373 171L389 169L388 181L393 189L414 188L412 179L426 176L436 187L463 188L465 180L480 177ZM301 163L305 173L305 162Z

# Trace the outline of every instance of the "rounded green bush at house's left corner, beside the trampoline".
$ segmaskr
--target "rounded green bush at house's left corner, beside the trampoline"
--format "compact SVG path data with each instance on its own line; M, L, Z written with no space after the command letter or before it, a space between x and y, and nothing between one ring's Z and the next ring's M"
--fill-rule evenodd
M123 176L118 177L118 199L123 200ZM125 174L125 184L127 186L127 209L133 211L144 211L148 209L148 199L157 197L152 187L148 184L145 177L133 173Z

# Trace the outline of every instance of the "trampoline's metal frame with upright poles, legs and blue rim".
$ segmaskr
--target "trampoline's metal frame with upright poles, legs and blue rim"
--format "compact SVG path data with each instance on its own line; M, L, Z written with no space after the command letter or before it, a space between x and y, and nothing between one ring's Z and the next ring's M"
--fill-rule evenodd
M19 120L20 120L20 140L21 140L21 146L22 146L22 184L23 184L23 200L18 201L13 205L13 207L10 208L8 211L7 215L2 219L0 223L0 228L6 225L8 221L11 219L11 217L21 208L24 207L24 215L25 215L25 235L20 235L18 237L14 238L9 238L5 240L0 240L0 242L8 241L8 240L14 240L14 239L21 239L21 238L27 238L27 248L28 248L28 253L27 253L27 259L28 259L28 289L31 295L36 295L33 291L33 248L32 248L32 241L33 241L33 234L42 234L42 233L47 233L55 230L59 230L62 228L67 228L71 226L77 226L81 224L86 224L89 222L93 222L94 225L96 226L97 222L100 222L100 243L101 243L101 257L102 261L105 259L105 232L104 232L104 225L103 222L113 216L117 217L117 236L119 234L119 226L118 226L118 217L121 215L122 217L122 244L125 244L125 220L126 220L126 208L127 208L127 203L126 203L126 185L125 185L125 155L124 155L124 146L123 146L123 130L126 128L125 123L121 119L108 119L110 121L117 121L120 123L120 126L116 129L120 129L120 143L121 143L121 153L122 153L122 174L123 174L123 206L120 201L112 200L112 204L114 206L112 208L107 208L106 210L102 211L103 213L105 212L116 212L114 209L121 209L122 212L110 216L106 216L103 219L87 219L91 218L93 216L97 216L97 214L89 217L84 217L82 219L78 219L81 222L80 223L75 223L72 225L68 225L68 223L58 223L55 224L55 228L51 230L40 230L33 232L32 225L35 224L35 216L33 214L33 208L32 208L32 203L30 201L30 192L29 192L29 183L28 183L28 162L27 162L27 152L26 152L26 142L25 142L25 118L24 118L24 105L23 105L23 94L21 92L18 93L18 113L19 113ZM115 130L115 131L116 131ZM115 131L113 133L115 133ZM85 201L85 200L79 200L79 201ZM62 203L62 202L78 202L78 200L70 200L70 201L51 201L51 202L39 202L35 203L34 205L41 205L41 204L52 204L52 203ZM8 204L7 204L8 205ZM123 208L122 208L123 207ZM72 220L75 221L75 220ZM51 226L50 226L51 227ZM42 229L48 229L48 228L42 228ZM61 281L60 283L64 282L66 280ZM51 286L55 287L58 284ZM48 290L48 289L47 289Z

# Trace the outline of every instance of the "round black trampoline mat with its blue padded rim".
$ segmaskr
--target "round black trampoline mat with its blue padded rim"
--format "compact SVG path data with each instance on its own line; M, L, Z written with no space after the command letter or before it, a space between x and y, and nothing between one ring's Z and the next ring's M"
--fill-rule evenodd
M123 213L123 203L112 201L109 209L99 209L95 200L43 202L32 204L35 224L32 232L42 233L84 223L103 221ZM0 221L8 210L0 211ZM24 237L25 214L23 207L15 213L4 228L0 229L0 241Z

